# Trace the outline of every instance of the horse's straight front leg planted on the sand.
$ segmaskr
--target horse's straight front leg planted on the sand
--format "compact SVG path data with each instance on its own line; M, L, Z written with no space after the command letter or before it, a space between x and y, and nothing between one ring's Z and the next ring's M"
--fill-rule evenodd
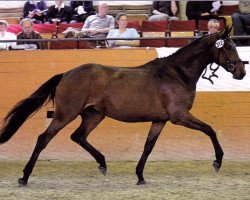
M136 167L136 174L138 177L137 185L142 185L146 183L143 178L144 166L165 124L166 124L166 121L153 122L151 125L148 138L144 146L144 151Z

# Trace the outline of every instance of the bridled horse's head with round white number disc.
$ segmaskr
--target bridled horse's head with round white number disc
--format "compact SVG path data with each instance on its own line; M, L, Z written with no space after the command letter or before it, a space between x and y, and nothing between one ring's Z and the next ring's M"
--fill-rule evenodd
M226 28L216 36L213 47L213 62L222 66L226 71L233 74L234 79L243 79L246 75L245 65L239 58L236 46L229 37L231 28Z

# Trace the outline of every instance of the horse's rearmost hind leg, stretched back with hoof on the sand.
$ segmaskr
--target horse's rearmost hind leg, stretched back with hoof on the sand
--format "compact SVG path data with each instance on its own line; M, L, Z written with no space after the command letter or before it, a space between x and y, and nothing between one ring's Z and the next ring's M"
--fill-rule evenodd
M75 118L75 117L74 117ZM35 166L35 163L38 159L38 156L42 152L43 149L47 146L47 144L52 140L52 138L64 127L66 126L69 122L71 122L73 119L72 117L71 120L63 120L59 121L58 117L53 118L51 124L49 127L46 129L44 133L42 133L37 140L35 149L32 153L32 156L29 160L29 162L26 164L24 170L23 170L23 177L18 179L18 182L20 185L26 185L29 179L30 174L33 171L33 168Z

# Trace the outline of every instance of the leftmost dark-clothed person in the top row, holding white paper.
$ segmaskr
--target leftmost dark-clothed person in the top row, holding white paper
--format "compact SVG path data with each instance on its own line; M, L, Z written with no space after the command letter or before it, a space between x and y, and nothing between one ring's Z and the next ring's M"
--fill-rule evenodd
M43 24L46 21L45 1L27 1L23 7L23 18L30 18L34 24Z

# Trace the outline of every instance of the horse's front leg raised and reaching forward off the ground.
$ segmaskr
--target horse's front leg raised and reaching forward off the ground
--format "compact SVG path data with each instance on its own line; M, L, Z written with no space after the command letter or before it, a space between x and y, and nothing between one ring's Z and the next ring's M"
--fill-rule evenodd
M200 121L199 119L195 118L189 112L178 112L172 114L170 117L170 121L173 124L178 124L191 129L202 131L203 133L205 133L210 137L214 146L215 157L216 157L216 160L213 162L213 167L215 171L218 172L222 164L222 158L224 153L217 139L216 133L212 129L212 127Z

